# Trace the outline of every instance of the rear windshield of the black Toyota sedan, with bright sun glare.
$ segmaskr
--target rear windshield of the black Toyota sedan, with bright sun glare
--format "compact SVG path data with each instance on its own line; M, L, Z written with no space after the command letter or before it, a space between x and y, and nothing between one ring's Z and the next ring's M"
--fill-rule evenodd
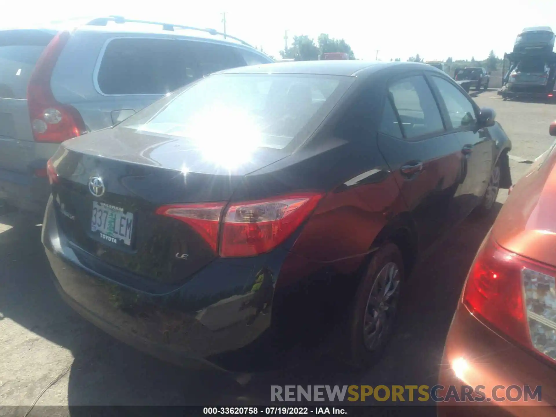
M152 110L147 107L120 126L207 146L282 149L311 121L320 123L351 81L317 75L218 74L176 93L168 103L163 99Z

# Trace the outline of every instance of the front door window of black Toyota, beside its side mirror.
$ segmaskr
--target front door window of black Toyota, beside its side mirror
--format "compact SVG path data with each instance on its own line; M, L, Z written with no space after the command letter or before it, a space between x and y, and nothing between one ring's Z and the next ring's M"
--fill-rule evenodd
M431 77L440 92L448 110L448 117L454 129L475 126L475 108L459 89L440 77Z

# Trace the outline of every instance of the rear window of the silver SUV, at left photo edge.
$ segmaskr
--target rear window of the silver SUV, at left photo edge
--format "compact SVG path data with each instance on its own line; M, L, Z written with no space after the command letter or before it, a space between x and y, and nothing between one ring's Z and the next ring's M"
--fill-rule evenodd
M0 98L27 98L27 84L46 46L0 46Z

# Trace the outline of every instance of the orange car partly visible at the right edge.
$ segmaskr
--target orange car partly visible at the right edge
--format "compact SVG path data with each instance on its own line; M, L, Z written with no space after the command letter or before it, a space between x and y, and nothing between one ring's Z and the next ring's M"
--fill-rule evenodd
M515 185L471 266L431 388L439 416L556 415L555 277L556 142Z

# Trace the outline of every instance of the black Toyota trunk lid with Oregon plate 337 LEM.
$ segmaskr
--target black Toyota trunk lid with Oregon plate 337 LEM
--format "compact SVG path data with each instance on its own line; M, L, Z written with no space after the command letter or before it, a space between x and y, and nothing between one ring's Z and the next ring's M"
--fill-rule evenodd
M224 207L244 175L283 156L260 148L244 164L222 167L183 138L108 128L59 148L51 160L54 204L64 234L88 256L171 284L214 260L216 247L195 225L157 209L175 203Z

